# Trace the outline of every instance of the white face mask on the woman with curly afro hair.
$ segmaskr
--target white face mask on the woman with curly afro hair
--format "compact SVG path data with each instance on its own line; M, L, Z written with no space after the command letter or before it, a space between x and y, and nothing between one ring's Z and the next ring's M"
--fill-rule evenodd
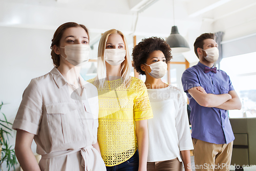
M147 64L146 64L147 65ZM151 77L155 79L162 78L167 70L167 64L163 61L155 62L153 64L147 65L150 66L151 72L147 72Z

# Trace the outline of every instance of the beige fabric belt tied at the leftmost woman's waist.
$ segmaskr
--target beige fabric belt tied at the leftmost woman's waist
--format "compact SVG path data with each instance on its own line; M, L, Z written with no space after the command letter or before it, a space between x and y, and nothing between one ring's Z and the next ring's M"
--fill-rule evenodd
M87 151L89 149L93 149L93 146L88 145L88 146L78 149L78 150L68 150L68 151L47 153L47 154L42 155L42 159L51 159L51 158L55 158L55 157L62 157L62 156L67 156L70 154L80 152L80 154L82 156L81 166L84 167L85 171L90 171L90 170L92 170L94 162L90 161L89 153Z

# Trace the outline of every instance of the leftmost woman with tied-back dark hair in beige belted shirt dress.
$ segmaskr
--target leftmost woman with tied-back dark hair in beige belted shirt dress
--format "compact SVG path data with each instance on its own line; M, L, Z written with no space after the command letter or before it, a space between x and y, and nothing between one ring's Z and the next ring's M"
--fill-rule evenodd
M105 170L97 141L97 89L79 75L90 55L87 28L64 23L55 31L51 49L55 67L31 80L13 123L20 166L25 171ZM42 156L39 165L33 139Z

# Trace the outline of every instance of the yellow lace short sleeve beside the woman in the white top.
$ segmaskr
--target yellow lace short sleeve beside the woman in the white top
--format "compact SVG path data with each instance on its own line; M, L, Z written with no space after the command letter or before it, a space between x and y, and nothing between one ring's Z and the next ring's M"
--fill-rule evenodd
M145 84L139 80L137 87L141 87L138 90L138 95L134 100L134 120L143 120L153 118L153 112L148 98Z

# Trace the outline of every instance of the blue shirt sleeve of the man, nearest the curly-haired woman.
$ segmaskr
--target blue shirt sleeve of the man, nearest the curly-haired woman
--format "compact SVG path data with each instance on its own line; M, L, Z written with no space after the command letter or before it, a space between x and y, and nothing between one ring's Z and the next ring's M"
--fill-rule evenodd
M182 85L183 85L183 90L185 92L187 92L187 90L189 90L193 87L201 86L197 75L194 73L193 69L191 69L191 68L186 69L183 72L181 81L182 81Z

